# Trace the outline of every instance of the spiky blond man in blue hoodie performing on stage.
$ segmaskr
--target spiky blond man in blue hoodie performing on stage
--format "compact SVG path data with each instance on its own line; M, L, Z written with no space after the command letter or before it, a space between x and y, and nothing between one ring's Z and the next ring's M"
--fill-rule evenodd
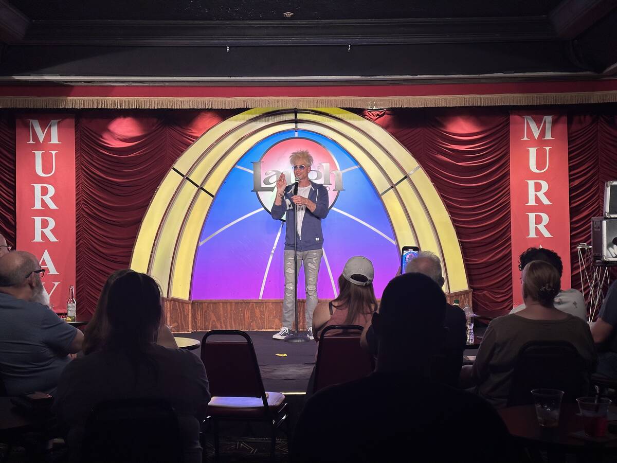
M272 336L274 339L284 339L289 335L295 318L294 313L294 224L296 225L297 269L304 263L304 282L307 294L305 319L307 335L313 339L313 311L317 306L317 275L321 254L323 254L323 233L321 219L328 215L328 190L309 180L309 172L313 165L313 157L309 151L292 152L289 157L291 168L297 178L297 194L295 185L287 185L284 173L276 181L276 199L272 206L272 218L279 220L285 214L286 233L284 266L285 298L283 299L283 327ZM294 205L297 206L297 217Z

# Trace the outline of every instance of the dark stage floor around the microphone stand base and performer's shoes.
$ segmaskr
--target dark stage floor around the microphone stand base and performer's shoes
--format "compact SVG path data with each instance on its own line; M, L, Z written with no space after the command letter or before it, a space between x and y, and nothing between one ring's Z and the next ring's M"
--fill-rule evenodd
M317 343L286 343L272 339L273 331L247 332L255 346L257 362L262 373L263 386L267 391L304 393L310 373L315 365ZM204 332L176 333L176 336L201 341ZM193 351L199 355L199 349ZM276 354L287 354L277 356Z

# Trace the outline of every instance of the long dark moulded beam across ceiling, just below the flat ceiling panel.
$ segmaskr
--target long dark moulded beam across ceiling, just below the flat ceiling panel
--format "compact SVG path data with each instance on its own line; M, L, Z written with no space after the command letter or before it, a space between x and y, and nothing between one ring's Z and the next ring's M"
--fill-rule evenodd
M36 20L25 45L263 46L560 40L547 17L311 21Z

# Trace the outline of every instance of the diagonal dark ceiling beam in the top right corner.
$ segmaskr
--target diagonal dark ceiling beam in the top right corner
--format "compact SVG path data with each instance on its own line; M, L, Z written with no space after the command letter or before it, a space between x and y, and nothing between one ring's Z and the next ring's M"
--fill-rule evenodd
M550 21L563 39L573 39L617 6L617 0L563 0L549 14Z

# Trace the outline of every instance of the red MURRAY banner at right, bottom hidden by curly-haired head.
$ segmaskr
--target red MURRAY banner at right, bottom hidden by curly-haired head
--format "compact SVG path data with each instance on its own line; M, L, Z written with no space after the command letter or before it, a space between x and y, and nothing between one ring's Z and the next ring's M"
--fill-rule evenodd
M561 288L570 288L566 115L510 113L510 220L514 306L523 302L518 258L527 248L557 252L564 270Z

